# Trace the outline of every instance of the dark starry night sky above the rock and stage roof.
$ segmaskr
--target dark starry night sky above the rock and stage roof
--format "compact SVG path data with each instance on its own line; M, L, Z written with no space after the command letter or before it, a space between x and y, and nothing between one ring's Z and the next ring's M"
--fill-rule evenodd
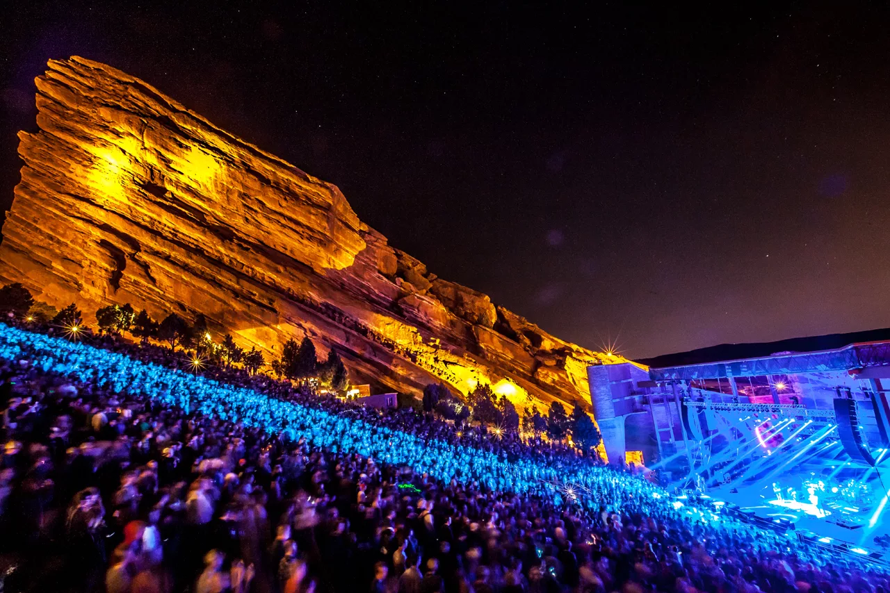
M247 4L4 3L0 207L34 77L77 54L336 183L431 272L580 345L890 326L883 3Z

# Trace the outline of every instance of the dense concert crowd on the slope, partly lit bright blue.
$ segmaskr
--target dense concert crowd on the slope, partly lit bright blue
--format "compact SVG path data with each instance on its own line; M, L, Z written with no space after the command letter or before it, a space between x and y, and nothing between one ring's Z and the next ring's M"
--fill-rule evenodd
M208 371L0 324L3 590L890 590L568 450Z

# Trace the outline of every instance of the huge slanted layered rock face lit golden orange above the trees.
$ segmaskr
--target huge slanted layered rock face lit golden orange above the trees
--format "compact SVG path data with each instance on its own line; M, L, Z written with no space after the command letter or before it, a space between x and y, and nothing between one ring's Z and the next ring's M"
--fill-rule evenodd
M206 316L267 360L290 337L353 381L410 394L489 382L520 406L589 406L587 365L623 361L546 334L441 280L362 223L337 188L104 64L50 61L0 244L0 282L85 313L129 302Z

